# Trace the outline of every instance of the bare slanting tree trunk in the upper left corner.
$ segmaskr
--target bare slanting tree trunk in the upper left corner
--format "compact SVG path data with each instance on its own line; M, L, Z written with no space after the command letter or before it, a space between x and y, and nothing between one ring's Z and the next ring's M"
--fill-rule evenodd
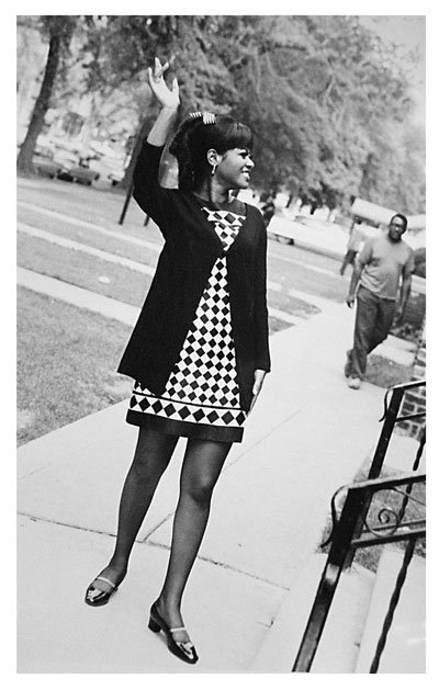
M16 170L19 172L33 172L32 158L34 155L36 139L38 138L38 135L43 128L44 117L49 108L52 89L59 65L60 52L61 36L59 34L53 35L50 37L43 83L34 105L26 136L23 144L21 145L20 154L16 159Z

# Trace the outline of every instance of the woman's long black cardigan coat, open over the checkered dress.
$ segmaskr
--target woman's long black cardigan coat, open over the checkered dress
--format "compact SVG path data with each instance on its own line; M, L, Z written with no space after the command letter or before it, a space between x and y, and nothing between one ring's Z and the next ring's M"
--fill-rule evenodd
M156 395L165 391L223 246L200 200L158 183L162 147L144 143L134 171L134 199L160 228L165 246L156 273L117 371ZM209 205L209 202L206 202ZM226 252L240 405L251 403L256 369L270 371L266 297L267 231L258 208Z

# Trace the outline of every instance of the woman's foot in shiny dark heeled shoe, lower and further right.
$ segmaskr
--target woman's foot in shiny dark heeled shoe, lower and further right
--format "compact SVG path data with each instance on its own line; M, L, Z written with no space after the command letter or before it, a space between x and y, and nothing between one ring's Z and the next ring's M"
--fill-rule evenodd
M196 664L199 657L184 627L180 609L158 599L150 609L149 630L165 633L169 651L188 664Z

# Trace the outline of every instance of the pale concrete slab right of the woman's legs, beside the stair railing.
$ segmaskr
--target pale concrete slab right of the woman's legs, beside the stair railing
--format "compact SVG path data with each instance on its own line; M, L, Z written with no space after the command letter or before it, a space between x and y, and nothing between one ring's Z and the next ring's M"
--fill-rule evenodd
M340 337L342 324L349 326L339 317ZM318 544L333 494L352 479L381 430L383 391L346 386L333 329L331 315L318 315L273 339L280 366L256 409L271 418L279 396L291 416L224 474L200 552L286 588ZM170 533L168 520L149 539L169 545Z

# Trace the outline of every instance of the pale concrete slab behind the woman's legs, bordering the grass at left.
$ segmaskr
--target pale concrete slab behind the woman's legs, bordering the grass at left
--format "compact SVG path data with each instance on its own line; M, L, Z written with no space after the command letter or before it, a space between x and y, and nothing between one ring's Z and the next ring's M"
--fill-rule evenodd
M117 505L137 439L136 427L125 423L127 400L85 417L21 446L18 452L18 508L23 514L115 534ZM281 398L273 401L274 419L256 408L246 429L246 442L235 445L227 466L237 462L292 410ZM293 410L294 411L294 410ZM185 441L180 440L138 540L142 541L173 512Z

